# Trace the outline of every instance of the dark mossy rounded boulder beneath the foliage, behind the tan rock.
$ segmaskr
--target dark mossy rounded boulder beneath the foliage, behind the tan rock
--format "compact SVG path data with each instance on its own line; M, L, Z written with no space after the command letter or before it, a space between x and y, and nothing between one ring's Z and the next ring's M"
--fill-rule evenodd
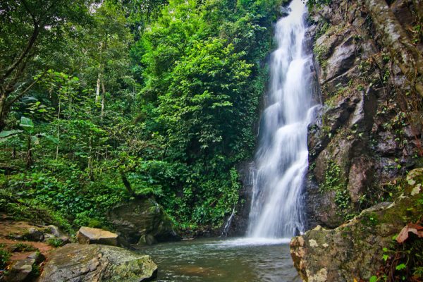
M180 240L168 214L152 199L135 199L119 204L111 209L109 219L114 223L123 245Z

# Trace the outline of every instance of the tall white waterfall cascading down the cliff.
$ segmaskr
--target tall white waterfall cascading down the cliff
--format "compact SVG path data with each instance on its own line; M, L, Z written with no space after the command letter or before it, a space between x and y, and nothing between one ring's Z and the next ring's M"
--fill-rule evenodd
M259 125L247 236L286 238L304 231L301 200L307 173L307 126L314 116L312 54L303 47L305 4L293 0L276 23L270 85Z

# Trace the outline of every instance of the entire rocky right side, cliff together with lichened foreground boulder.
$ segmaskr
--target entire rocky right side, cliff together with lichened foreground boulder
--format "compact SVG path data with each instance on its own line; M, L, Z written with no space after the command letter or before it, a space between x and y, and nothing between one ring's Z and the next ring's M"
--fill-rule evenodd
M367 281L389 271L387 281L396 281L405 256L392 238L422 221L422 179L404 181L423 166L422 3L312 3L322 107L309 125L311 230L293 238L291 255L304 281Z

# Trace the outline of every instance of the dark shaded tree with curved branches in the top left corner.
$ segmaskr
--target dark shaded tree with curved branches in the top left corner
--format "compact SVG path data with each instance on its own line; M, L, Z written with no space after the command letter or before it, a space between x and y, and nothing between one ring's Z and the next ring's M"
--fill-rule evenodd
M63 43L63 26L87 19L89 0L0 2L0 131ZM37 78L35 78L37 77Z

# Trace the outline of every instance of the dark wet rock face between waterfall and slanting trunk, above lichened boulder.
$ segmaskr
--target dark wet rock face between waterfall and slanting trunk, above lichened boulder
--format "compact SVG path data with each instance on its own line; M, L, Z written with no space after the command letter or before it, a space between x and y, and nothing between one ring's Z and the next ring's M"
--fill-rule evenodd
M401 17L412 5L397 0L391 9ZM335 228L382 200L382 183L413 168L422 144L421 128L410 124L396 100L405 78L391 67L369 18L362 2L347 0L309 15L322 107L309 125L308 229ZM401 20L404 27L412 22Z

